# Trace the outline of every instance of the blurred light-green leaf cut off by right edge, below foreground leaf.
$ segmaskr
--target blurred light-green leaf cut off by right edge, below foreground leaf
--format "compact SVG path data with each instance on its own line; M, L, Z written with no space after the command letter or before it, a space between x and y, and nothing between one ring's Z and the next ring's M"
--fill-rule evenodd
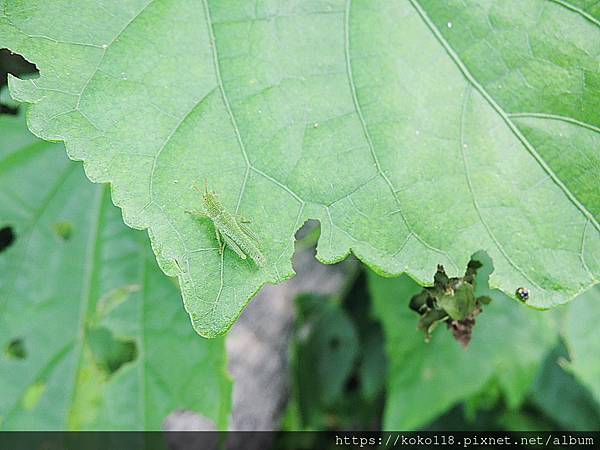
M600 288L580 295L569 306L564 339L569 351L570 370L592 392L600 405Z

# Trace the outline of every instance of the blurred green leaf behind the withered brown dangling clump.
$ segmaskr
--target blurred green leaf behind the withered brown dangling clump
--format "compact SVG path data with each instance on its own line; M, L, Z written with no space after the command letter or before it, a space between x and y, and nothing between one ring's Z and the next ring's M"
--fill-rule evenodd
M481 283L480 283L481 284ZM498 291L477 316L467 349L445 326L425 343L409 299L421 291L406 275L369 274L374 314L382 321L389 361L384 428L416 429L456 403L499 387L510 407L527 394L556 341L551 318L507 301ZM546 313L547 314L547 313Z

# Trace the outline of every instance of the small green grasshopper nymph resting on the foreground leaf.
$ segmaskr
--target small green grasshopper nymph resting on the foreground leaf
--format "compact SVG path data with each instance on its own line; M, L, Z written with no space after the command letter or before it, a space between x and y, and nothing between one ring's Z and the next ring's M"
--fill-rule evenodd
M258 238L246 226L250 221L226 211L217 194L208 190L208 180L205 180L204 186L203 193L198 189L202 194L204 211L186 213L195 217L207 217L212 221L221 254L225 245L228 245L240 258L245 260L250 257L256 265L263 267L267 260L258 248Z

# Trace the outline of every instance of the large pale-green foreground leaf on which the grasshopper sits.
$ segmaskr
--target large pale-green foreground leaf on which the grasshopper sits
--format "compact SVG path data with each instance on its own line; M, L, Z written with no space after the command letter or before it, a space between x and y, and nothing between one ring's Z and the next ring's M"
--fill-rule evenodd
M600 12L578 0L0 0L29 127L64 140L148 228L202 335L293 274L294 233L428 281L494 259L491 284L564 303L600 273ZM254 221L265 268L220 256L207 178Z

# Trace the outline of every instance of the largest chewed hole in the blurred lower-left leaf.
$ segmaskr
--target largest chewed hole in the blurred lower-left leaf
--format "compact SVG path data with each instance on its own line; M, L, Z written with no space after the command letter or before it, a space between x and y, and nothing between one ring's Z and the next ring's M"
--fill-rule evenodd
M97 366L112 375L124 364L134 361L138 356L137 345L130 339L115 338L104 327L89 332L89 344Z

